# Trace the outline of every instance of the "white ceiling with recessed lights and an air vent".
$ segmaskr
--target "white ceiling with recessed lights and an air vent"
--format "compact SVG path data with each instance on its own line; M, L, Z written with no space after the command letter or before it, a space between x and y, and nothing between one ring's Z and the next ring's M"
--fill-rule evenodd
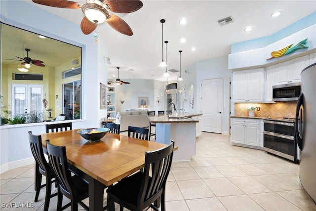
M36 4L36 6L68 19L78 25L83 13L81 9L56 8ZM85 0L77 0L85 3ZM163 38L167 44L167 69L179 70L179 50L181 53L181 73L192 64L230 54L233 43L248 41L272 35L316 11L315 0L142 0L143 7L129 14L116 14L133 30L133 36L126 36L113 30L107 23L97 27L99 37L106 41L111 65L108 76L120 79L155 79L166 81L162 74L165 68L158 67L162 59L162 25L165 19ZM279 17L270 15L281 11ZM233 23L219 26L218 20L231 16ZM188 23L180 25L186 18ZM43 17L43 21L44 17ZM251 32L244 28L252 26ZM80 27L80 26L78 26ZM61 29L67 30L67 29ZM93 34L93 33L92 33ZM94 39L92 34L91 39ZM186 43L180 43L185 38ZM197 50L191 52L195 46ZM165 55L165 44L164 44ZM129 71L133 69L134 71ZM168 71L169 72L169 71ZM179 73L171 73L169 80L176 80ZM114 77L116 78L116 77Z

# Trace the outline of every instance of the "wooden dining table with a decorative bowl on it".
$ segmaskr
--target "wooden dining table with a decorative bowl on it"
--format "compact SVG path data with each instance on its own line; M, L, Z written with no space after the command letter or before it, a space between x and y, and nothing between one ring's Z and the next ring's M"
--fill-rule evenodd
M166 144L146 141L108 132L100 141L90 142L72 129L41 135L43 148L46 140L65 146L69 168L89 186L89 210L102 211L104 189L124 177L142 169L145 152L155 151Z

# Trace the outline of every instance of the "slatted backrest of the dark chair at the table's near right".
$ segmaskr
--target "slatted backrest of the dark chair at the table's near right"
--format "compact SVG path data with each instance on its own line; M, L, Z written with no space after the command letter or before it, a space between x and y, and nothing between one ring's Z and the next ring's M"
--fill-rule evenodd
M147 207L152 198L158 198L164 191L171 168L174 141L168 146L145 154L144 177L138 195L138 205Z

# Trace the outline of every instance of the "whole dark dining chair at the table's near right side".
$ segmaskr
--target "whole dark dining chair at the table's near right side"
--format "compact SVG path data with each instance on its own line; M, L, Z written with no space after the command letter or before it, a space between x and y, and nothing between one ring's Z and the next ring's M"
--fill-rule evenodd
M164 148L145 153L144 172L139 171L120 180L107 189L108 211L114 211L114 203L120 211L142 211L148 207L165 211L165 185L171 168L174 141ZM154 204L153 204L154 203Z

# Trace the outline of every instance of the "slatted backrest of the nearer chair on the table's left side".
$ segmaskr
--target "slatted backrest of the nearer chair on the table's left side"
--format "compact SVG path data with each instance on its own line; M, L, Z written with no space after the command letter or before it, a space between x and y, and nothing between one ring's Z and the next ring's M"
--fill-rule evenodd
M52 145L49 140L46 140L46 147L49 164L58 180L61 192L66 196L71 196L74 193L72 192L73 184L71 172L68 169L66 147Z

